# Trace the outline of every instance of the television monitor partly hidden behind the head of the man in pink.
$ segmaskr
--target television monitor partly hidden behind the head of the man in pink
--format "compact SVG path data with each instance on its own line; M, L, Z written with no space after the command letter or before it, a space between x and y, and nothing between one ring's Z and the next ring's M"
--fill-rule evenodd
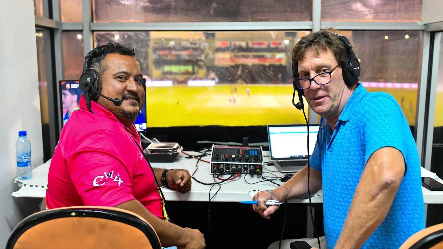
M146 79L142 80L143 89L146 91ZM82 95L82 90L78 86L78 80L64 80L60 81L60 98L62 103L61 117L62 124L65 125L66 122L71 117L72 112L78 108L78 103L80 101L80 96ZM136 130L138 132L146 131L147 121L146 121L146 101L140 110L140 115L134 122Z

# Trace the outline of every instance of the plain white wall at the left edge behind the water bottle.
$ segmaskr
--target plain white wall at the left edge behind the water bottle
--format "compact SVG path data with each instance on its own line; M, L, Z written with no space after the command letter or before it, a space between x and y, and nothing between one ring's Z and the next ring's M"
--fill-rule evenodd
M19 130L31 141L33 166L43 163L33 0L0 0L0 248L17 223L31 214L35 198L18 189L15 144Z

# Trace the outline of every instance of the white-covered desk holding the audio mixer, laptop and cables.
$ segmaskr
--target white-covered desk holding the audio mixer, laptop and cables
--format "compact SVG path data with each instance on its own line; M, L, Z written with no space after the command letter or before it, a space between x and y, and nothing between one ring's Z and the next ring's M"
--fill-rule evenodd
M152 167L157 168L182 168L187 169L190 174L192 174L195 170L196 159L187 159L187 156L184 154L180 154L178 159L174 163L151 163ZM203 157L203 160L210 160L209 156ZM265 161L268 161L269 157L265 157ZM37 197L44 198L46 193L47 186L47 176L49 171L50 161L42 164L39 167L36 167L33 170L33 178L30 180L18 181L16 179L16 183L19 183L20 189L12 193L12 196L16 197ZM277 171L273 166L265 166L264 167L264 175L272 176L269 173L271 171ZM280 172L271 172L277 176L284 175ZM422 169L422 176L425 174L429 174L429 171ZM427 176L427 175L426 175ZM212 178L212 174L210 174L209 163L199 162L198 170L195 172L194 177L201 182L204 183L212 183L214 179ZM222 175L221 178L226 178L227 175ZM221 190L218 191L218 194L212 199L213 202L239 202L241 200L251 200L253 195L256 194L257 191L264 190L273 190L277 186L269 183L262 182L253 185L249 185L245 183L245 175L240 175L237 179L229 182L221 183ZM436 178L439 182L443 183L442 179ZM258 182L261 180L257 175L250 176L246 175L246 179L249 183ZM219 180L218 180L219 181ZM280 180L276 180L276 183L282 184ZM170 189L162 188L163 194L165 195L165 199L168 201L194 201L194 202L207 202L209 200L209 190L211 186L202 185L197 183L196 181L192 181L192 189L186 194L181 194L177 191L173 191ZM217 191L218 187L215 186L211 191L211 195L214 195ZM443 191L430 191L426 188L422 187L424 203L426 204L443 204ZM312 198L311 202L313 203L322 203L323 202L323 192L319 191ZM308 199L296 199L291 200L289 202L292 203L308 203Z

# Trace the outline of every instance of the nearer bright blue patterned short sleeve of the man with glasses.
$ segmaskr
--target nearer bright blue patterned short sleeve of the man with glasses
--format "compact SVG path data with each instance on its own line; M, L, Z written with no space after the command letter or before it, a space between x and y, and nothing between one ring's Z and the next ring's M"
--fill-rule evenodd
M363 121L365 164L374 152L384 147L396 148L406 158L405 137L410 134L404 131L409 128L405 129L408 124L396 100L388 94L376 95L369 97L364 105L369 107L365 108Z

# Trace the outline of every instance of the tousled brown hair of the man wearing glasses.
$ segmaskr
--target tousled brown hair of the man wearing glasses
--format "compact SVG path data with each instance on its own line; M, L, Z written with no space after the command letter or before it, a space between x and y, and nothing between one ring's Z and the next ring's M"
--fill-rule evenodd
M328 48L334 53L340 66L346 65L347 58L350 55L345 44L338 38L337 34L338 31L330 27L302 37L292 49L292 60L295 62L294 70L298 70L296 62L303 60L307 51L313 50L315 53L320 54L320 52L324 52ZM298 74L297 71L295 73Z

